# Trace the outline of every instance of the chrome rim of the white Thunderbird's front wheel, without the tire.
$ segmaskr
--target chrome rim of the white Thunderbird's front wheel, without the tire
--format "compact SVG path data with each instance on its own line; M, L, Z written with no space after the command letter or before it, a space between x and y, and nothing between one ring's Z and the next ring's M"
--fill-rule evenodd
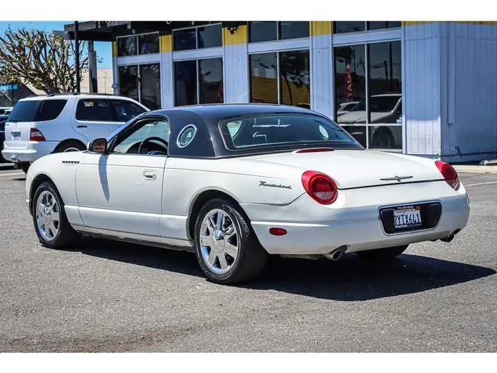
M37 229L43 239L54 240L60 228L59 204L49 191L42 191L37 199L36 220Z

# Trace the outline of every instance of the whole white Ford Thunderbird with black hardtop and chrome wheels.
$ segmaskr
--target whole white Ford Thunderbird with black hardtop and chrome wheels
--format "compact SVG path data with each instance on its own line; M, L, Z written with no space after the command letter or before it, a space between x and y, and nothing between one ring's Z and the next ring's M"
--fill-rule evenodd
M26 203L46 247L86 233L191 250L217 283L255 278L271 254L391 258L469 218L449 164L366 151L323 115L264 104L145 113L34 162Z

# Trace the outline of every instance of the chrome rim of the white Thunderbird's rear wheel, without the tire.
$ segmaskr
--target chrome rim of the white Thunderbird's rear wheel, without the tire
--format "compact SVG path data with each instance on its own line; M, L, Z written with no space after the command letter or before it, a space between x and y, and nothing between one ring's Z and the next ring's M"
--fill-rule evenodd
M222 209L209 211L199 231L202 259L215 274L225 274L238 256L238 235L235 219Z

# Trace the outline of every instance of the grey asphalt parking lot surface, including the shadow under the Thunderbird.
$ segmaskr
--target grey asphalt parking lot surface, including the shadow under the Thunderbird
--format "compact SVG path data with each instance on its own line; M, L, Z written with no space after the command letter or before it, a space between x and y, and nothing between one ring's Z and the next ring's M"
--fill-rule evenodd
M23 173L0 166L0 352L496 352L497 174L460 178L471 217L449 244L381 264L274 258L228 287L194 254L41 247Z

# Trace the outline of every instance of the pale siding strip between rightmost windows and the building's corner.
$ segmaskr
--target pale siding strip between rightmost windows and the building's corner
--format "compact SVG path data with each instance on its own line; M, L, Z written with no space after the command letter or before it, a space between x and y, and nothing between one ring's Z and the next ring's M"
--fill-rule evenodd
M402 27L405 152L440 153L440 23Z

